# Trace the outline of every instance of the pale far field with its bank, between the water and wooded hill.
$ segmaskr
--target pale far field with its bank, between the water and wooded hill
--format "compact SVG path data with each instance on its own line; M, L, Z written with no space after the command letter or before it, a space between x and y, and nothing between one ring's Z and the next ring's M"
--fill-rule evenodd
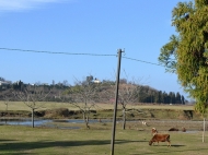
M43 118L54 119L82 119L82 114L79 108L71 104L66 103L37 103L41 108L36 109L36 116ZM82 105L83 106L83 105ZM5 112L7 105L0 102L0 114L2 119L12 117L30 117L31 109L24 103L10 102L8 111ZM154 105L154 104L134 104L127 105L128 111L126 112L128 120L147 120L147 119L178 119L178 120L203 120L200 114L195 112L194 106L187 105ZM114 112L114 104L96 104L91 108L91 119L112 119ZM117 118L122 119L122 106L117 106ZM208 118L208 115L205 115Z

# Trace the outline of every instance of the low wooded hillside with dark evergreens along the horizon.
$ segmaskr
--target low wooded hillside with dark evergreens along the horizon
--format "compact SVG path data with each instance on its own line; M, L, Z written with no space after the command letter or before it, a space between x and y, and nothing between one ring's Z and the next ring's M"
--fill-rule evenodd
M43 90L42 92L44 92L44 94L49 92L45 98L45 102L61 102L60 98L63 95L72 95L74 97L81 95L82 93L88 94L89 92L94 93L91 94L91 99L94 99L96 103L109 103L111 99L115 98L115 82L113 81L103 81L102 83L81 81L74 85L65 85L62 83L55 85L30 85L20 81L19 83L0 85L0 100L18 102L21 99L14 96L15 92L24 92L26 93L25 95L36 94L37 96L41 95L38 94L39 90ZM184 98L184 96L178 92L162 92L148 85L140 85L135 82L127 82L124 80L120 80L118 94L120 99L123 98L123 100L127 100L126 98L128 98L129 103L182 105L187 103L186 98Z

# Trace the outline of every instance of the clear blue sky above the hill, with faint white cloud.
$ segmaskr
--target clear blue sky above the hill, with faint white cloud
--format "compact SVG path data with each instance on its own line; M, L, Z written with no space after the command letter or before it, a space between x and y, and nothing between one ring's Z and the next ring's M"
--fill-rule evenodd
M180 0L0 0L0 76L12 82L73 84L93 75L115 80L117 49L125 50L120 78L139 80L159 91L180 92L175 74L165 73L158 57L175 28L172 10ZM135 60L136 59L136 60ZM137 61L138 60L138 61ZM141 60L141 61L139 61ZM126 74L125 74L125 72Z

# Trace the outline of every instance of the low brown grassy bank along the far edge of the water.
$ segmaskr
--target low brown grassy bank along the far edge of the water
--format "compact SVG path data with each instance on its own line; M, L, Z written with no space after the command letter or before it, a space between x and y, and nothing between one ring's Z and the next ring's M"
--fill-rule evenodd
M113 119L113 109L90 110L90 119ZM27 110L0 110L0 118L27 118L31 117L31 111ZM36 118L44 119L82 119L80 110L70 110L68 108L54 108L46 110L36 110ZM120 109L117 110L117 119L123 118ZM186 109L153 109L140 108L128 109L126 111L127 120L203 120L203 116L194 110ZM205 115L208 118L208 115Z

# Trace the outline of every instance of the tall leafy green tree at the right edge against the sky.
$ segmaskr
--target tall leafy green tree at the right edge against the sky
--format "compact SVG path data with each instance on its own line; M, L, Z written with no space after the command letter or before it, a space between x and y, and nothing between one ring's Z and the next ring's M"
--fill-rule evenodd
M161 48L159 61L196 100L196 110L208 107L208 0L178 2L172 11L178 35Z

